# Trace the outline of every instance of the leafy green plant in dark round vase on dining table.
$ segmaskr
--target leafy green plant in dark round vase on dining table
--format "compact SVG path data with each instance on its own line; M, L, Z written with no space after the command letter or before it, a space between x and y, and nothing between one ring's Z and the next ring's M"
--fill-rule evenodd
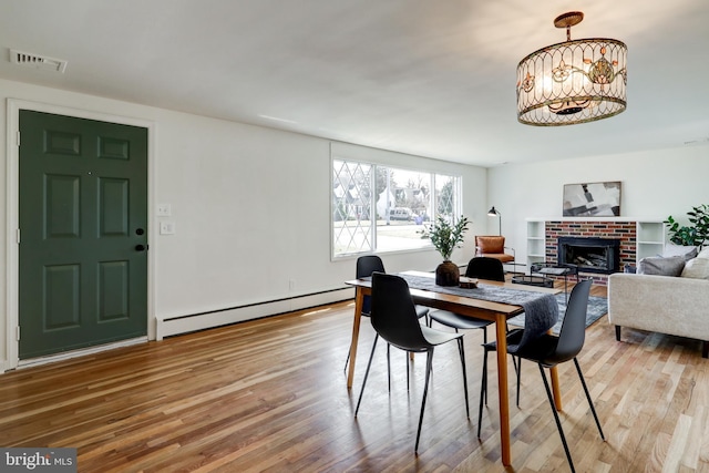
M460 282L461 271L458 265L451 261L451 255L455 248L461 247L469 223L463 215L454 224L439 215L435 222L427 225L421 232L421 238L429 238L443 257L443 263L435 268L435 284L439 286L458 286Z

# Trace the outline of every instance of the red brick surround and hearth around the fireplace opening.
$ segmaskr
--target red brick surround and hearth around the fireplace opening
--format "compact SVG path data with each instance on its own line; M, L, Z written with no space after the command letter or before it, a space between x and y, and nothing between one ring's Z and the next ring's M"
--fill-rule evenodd
M636 223L635 222L599 222L599 220L552 220L545 223L545 259L548 263L558 261L559 237L587 237L618 240L618 266L623 270L625 265L635 265L636 254ZM615 269L615 268L614 268ZM593 277L594 284L606 285L607 274L599 274L579 268L584 277ZM587 274L588 273L588 274Z

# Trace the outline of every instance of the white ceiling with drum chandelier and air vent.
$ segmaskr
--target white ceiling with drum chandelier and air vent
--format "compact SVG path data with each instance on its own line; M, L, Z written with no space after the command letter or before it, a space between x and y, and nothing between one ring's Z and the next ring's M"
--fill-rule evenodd
M628 45L628 107L522 125L517 62L572 10ZM2 0L0 78L494 166L709 143L707 24L707 0Z

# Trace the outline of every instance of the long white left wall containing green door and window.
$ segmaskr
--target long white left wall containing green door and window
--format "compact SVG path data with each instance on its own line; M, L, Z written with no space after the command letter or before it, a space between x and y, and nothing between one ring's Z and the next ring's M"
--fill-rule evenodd
M150 163L152 336L260 317L351 294L261 305L341 288L353 277L353 259L330 259L329 141L11 81L0 80L0 97L6 111L0 114L3 128L8 99L154 123L155 133L150 136L154 151ZM335 144L335 148L350 157L462 175L464 214L474 224L466 247L456 250L454 258L467 261L473 254L472 235L486 220L486 169L353 145ZM8 364L13 356L10 333L13 318L17 320L10 294L17 245L14 229L8 225L17 202L7 171L13 164L7 133L0 150L7 164L0 171L4 204L0 205L0 245L6 248L0 261L8 268L0 273L0 286L6 288L0 292L0 307L6 308L0 316L0 361L7 369L12 368ZM171 204L172 216L156 217L157 204ZM161 220L174 222L175 235L157 235ZM389 271L430 270L439 261L433 250L384 256ZM245 305L256 306L205 315L195 318L198 322L183 321L161 331L162 321L168 318Z

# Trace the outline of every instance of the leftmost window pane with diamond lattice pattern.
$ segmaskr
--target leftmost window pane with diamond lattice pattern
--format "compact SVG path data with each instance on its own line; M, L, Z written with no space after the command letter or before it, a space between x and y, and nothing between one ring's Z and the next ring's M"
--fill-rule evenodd
M332 248L335 255L374 249L371 222L371 173L373 166L332 162Z

